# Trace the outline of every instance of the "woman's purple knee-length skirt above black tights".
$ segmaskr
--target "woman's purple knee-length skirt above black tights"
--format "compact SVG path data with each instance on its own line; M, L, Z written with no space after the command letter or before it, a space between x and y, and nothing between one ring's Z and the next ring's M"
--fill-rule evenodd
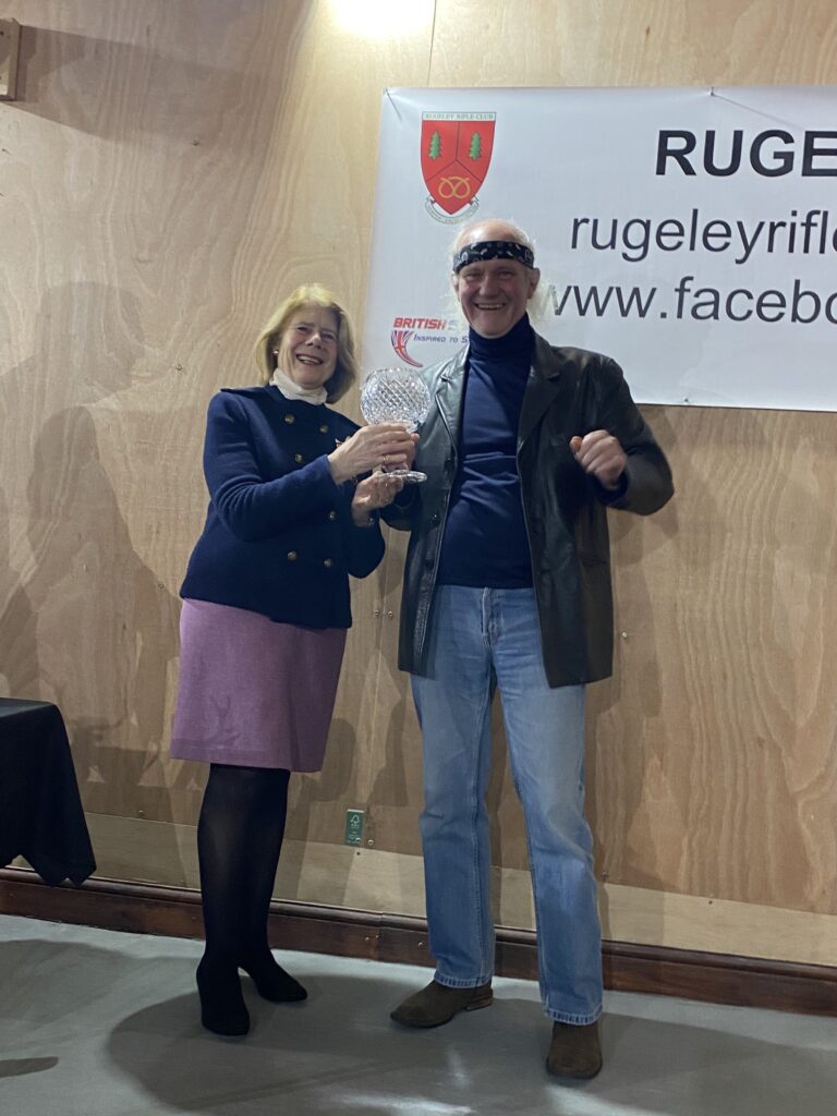
M180 637L175 759L319 771L344 628L296 627L243 608L184 600Z

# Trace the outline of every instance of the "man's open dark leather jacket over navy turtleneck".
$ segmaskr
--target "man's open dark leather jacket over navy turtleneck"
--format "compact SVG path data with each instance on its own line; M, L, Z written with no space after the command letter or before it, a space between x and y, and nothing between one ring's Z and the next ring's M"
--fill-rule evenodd
M423 674L427 624L448 502L458 469L468 350L427 368L433 398L416 468L427 473L384 510L412 531L404 570L398 666ZM569 449L574 434L607 430L628 455L620 488L586 474ZM518 471L543 664L551 686L595 682L613 670L613 593L606 507L647 516L674 489L668 462L631 398L619 366L585 349L556 348L535 335L518 430Z

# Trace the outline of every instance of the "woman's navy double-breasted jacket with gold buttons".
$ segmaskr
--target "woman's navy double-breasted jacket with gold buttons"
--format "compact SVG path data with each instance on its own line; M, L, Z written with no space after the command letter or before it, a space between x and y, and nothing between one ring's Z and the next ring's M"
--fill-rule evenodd
M225 388L209 405L203 471L211 501L181 596L304 627L350 627L348 575L384 555L375 522L352 519L354 483L326 454L357 425L278 388Z

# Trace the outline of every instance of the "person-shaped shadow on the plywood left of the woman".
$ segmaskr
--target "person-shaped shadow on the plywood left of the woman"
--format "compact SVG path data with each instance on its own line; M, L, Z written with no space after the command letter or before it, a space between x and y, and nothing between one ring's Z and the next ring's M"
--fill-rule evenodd
M9 479L0 673L10 694L61 709L87 811L170 820L173 788L160 756L179 604L136 552L121 501L142 512L147 500L146 514L154 514L160 494L142 490L136 446L177 415L114 404L144 352L129 292L100 283L51 288L36 337L32 356L0 378L0 422L9 432L0 448ZM118 496L102 461L103 436L110 472L119 471ZM185 785L191 773L179 778ZM171 854L176 859L176 849Z

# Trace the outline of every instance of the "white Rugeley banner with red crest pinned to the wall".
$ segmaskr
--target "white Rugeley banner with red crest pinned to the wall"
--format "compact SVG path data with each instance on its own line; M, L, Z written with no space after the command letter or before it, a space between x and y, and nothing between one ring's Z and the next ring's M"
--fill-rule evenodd
M500 217L536 328L638 402L837 411L835 186L837 87L389 89L364 366L455 352L450 249Z

